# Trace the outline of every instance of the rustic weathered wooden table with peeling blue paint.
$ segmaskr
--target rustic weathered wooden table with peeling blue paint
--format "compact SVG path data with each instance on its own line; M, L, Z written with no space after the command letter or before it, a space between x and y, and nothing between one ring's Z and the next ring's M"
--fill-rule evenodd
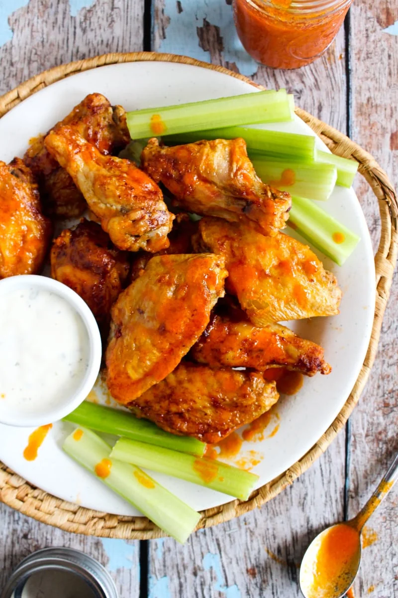
M240 46L231 0L1 0L0 93L54 65L115 51L157 50L222 64L368 149L398 181L398 0L354 0L322 59L297 71L254 63ZM395 20L395 23L394 23ZM378 212L358 176L372 240ZM398 449L397 280L368 385L345 431L313 467L258 511L195 533L184 545L87 538L0 506L0 590L19 560L75 547L112 572L122 598L294 598L304 550L327 524L353 515ZM371 520L356 596L398 596L397 491Z

